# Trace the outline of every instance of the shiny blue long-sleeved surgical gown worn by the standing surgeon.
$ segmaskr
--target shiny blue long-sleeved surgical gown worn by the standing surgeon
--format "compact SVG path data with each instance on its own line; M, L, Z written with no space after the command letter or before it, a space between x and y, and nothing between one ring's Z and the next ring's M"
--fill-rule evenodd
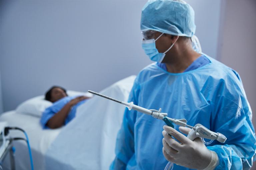
M134 81L128 102L162 108L170 118L224 134L225 143L214 140L206 145L219 157L216 169L249 169L256 139L242 81L236 71L205 56L208 64L184 73L169 73L156 63L145 67ZM126 109L110 169L163 170L168 163L162 154L163 125L161 120ZM177 125L174 128L178 130ZM188 168L174 164L174 169Z

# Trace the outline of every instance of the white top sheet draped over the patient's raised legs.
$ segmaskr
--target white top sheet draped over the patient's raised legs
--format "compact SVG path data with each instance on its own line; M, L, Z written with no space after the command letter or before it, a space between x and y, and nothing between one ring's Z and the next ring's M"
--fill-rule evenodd
M127 101L135 78L129 76L100 93ZM76 117L63 127L47 150L46 169L109 169L115 158L116 136L125 108L99 96L94 96L77 108Z

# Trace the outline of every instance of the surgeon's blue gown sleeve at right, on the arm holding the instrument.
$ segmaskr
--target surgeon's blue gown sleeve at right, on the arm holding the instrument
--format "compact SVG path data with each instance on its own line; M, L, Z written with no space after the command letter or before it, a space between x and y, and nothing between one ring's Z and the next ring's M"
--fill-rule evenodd
M215 98L217 100L214 102L211 124L214 131L227 137L225 143L215 141L215 145L207 147L219 157L216 170L250 169L255 155L256 139L252 110L239 75L222 79Z

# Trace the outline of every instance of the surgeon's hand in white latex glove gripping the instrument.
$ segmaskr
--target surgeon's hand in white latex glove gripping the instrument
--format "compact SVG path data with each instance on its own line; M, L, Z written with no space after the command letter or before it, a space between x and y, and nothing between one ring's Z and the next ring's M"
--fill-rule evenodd
M198 137L192 141L182 134L188 134L190 128L179 127L182 133L166 125L163 128L163 154L168 161L200 170L214 169L218 165L219 159L216 152L208 150L201 138Z

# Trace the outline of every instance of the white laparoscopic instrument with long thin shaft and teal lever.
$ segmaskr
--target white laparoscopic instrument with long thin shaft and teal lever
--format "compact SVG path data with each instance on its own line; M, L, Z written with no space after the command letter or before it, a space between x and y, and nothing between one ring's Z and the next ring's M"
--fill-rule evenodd
M91 90L88 90L88 92L92 93L92 94L95 94L97 96L104 97L106 99L115 101L117 103L120 103L120 104L126 106L129 110L133 109L133 110L136 110L138 112L141 112L141 113L144 113L144 114L147 114L147 115L151 115L156 119L163 120L166 123L166 125L168 125L172 128L174 128L173 124L176 124L176 125L179 125L179 126L182 126L182 127L189 127L189 128L191 128L191 130L188 133L187 137L192 141L197 137L210 139L210 140L217 140L221 143L224 143L227 140L226 136L224 136L223 134L218 133L218 132L217 133L213 132L213 131L209 130L208 128L204 127L201 124L196 124L193 127L193 126L187 125L187 120L186 119L172 119L172 118L169 118L169 117L167 117L167 113L161 113L161 110L162 110L161 108L159 110L154 110L154 109L148 110L146 108L134 105L133 102L128 103L128 102L119 101L119 100L113 99L111 97L102 95L100 93L96 93L96 92L91 91ZM209 143L209 142L205 142L205 143Z

